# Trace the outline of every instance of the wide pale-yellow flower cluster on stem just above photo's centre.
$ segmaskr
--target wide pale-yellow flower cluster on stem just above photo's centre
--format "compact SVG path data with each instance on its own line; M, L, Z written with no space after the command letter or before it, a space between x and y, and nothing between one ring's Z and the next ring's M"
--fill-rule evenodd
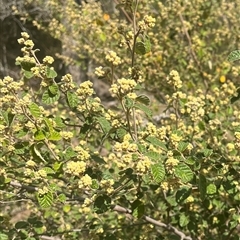
M118 94L126 95L133 91L137 86L137 83L133 79L121 78L117 80L117 83L111 85L109 91L113 97L116 97Z

